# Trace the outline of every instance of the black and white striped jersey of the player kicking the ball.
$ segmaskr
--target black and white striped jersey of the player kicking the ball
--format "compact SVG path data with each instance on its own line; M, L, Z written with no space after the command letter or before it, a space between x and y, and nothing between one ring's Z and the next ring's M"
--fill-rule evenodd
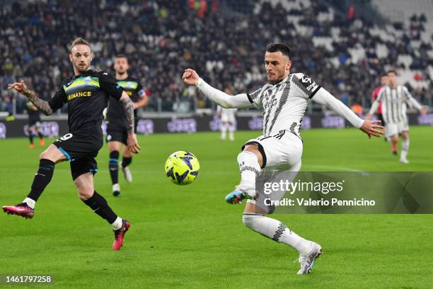
M289 130L299 136L308 101L320 88L306 74L294 73L247 94L253 106L263 111L263 135Z

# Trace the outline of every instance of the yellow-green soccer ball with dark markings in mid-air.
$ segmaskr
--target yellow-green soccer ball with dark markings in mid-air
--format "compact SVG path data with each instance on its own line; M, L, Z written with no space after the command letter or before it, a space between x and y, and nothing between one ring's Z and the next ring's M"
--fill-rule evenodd
M176 185L192 183L200 171L197 157L190 152L178 151L168 157L166 162L166 176Z

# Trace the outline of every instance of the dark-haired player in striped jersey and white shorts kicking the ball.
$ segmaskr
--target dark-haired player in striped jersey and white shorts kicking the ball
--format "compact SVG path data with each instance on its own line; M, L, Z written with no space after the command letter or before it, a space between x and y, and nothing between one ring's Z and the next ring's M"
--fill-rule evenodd
M314 261L321 254L321 246L300 237L282 222L265 216L267 211L253 200L256 174L262 169L294 172L301 169L303 145L299 128L310 99L329 106L369 137L379 137L383 127L378 124L379 120L358 118L306 74L290 74L290 50L284 43L274 43L267 47L265 68L268 83L251 94L229 96L204 82L192 69L185 70L183 80L189 85L197 86L204 95L225 108L255 106L262 109L263 135L246 142L243 151L238 154L241 183L226 196L226 201L241 203L248 198L243 211L243 224L265 237L296 249L301 263L298 274L306 274L311 272Z

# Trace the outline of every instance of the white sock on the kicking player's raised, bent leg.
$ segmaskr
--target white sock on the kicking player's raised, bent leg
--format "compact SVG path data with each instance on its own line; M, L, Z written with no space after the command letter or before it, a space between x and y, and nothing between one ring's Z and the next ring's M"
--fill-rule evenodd
M239 187L246 189L251 197L255 196L255 175L260 172L260 164L253 152L238 154L238 164L241 170L241 183Z

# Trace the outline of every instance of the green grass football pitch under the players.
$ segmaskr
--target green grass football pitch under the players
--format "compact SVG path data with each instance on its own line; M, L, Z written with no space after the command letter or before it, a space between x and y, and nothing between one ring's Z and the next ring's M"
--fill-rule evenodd
M408 165L388 142L357 130L306 130L302 168L432 171L432 130L411 128ZM141 136L134 182L120 175L120 198L111 195L104 146L96 191L132 223L120 251L111 249L110 225L77 198L69 164L58 164L32 220L0 215L0 274L50 274L47 288L433 288L433 215L275 215L323 246L313 273L297 276L296 251L244 227L243 205L224 202L239 179L239 147L258 135ZM175 186L163 171L180 149L200 160L189 186ZM24 138L0 140L1 205L27 195L40 152Z

